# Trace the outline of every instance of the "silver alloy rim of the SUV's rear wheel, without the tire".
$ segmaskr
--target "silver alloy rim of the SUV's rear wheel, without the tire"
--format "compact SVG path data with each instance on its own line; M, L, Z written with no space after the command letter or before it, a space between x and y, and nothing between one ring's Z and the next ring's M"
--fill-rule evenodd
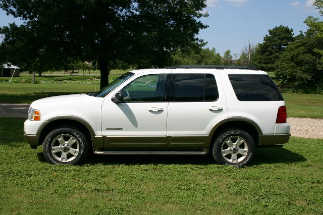
M221 145L221 154L227 162L239 163L248 153L247 142L239 136L228 137Z

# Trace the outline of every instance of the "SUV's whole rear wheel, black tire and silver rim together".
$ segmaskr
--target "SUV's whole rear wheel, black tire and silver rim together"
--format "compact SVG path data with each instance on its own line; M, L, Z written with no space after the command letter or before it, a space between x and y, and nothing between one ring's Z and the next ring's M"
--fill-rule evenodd
M214 160L221 165L242 167L252 158L254 141L241 129L226 129L217 136L212 146Z

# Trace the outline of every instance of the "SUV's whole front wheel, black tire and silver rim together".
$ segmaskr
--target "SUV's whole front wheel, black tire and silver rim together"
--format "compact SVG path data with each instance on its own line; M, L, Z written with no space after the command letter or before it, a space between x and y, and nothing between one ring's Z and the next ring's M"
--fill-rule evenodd
M44 140L43 154L52 164L81 164L87 156L88 141L74 127L52 130Z

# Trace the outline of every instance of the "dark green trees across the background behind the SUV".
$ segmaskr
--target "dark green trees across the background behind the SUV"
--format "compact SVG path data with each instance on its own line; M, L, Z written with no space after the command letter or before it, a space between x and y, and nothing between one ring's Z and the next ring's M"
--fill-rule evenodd
M113 7L112 7L113 6ZM323 15L323 0L314 6ZM170 65L256 66L274 71L281 89L323 92L323 22L305 20L295 36L287 26L268 30L260 44L239 55L202 48L197 37L204 0L193 1L0 1L0 8L24 20L0 28L0 67L18 64L26 71L100 69L100 87L109 71L165 68ZM106 10L112 8L113 10ZM73 11L73 13L70 13ZM122 11L122 13L121 13ZM103 16L104 15L104 16ZM84 62L90 62L85 64Z

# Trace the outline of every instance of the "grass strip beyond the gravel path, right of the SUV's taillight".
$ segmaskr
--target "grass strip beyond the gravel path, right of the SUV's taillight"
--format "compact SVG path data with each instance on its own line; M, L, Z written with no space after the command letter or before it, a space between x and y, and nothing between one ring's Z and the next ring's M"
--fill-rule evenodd
M283 93L288 117L323 119L323 94Z

